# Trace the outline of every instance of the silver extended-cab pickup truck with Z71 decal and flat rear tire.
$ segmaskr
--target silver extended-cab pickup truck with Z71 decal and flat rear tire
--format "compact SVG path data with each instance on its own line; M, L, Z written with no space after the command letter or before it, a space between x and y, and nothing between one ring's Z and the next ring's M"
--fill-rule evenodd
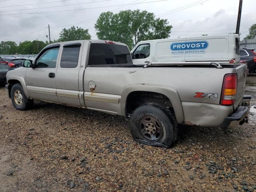
M59 42L7 73L18 110L41 100L131 117L134 139L170 147L178 124L223 127L247 121L246 65L157 63L134 66L125 44Z

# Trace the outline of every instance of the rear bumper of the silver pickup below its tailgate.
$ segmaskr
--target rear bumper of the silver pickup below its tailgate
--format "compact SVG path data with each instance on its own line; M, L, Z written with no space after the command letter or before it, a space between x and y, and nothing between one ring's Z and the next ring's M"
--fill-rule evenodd
M244 96L242 106L238 106L234 113L227 116L220 125L220 128L236 128L238 124L248 122L250 99L251 96Z

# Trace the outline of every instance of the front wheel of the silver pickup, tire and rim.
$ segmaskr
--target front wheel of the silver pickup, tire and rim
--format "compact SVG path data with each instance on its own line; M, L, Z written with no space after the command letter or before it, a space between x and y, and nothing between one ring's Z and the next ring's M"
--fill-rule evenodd
M11 100L13 106L18 110L28 110L34 104L33 100L26 97L21 84L14 84L11 89Z

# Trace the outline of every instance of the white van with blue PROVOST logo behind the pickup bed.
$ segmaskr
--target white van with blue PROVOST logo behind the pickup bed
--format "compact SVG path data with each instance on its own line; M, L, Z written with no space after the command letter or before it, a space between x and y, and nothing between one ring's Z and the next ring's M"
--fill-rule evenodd
M238 34L157 39L139 42L131 51L133 64L163 62L239 62Z

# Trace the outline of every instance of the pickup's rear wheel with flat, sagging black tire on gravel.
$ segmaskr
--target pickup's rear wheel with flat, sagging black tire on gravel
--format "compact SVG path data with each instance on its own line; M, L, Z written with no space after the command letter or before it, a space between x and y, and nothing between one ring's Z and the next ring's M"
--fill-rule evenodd
M138 142L169 148L177 140L175 116L158 104L146 103L136 108L131 123L132 136Z

